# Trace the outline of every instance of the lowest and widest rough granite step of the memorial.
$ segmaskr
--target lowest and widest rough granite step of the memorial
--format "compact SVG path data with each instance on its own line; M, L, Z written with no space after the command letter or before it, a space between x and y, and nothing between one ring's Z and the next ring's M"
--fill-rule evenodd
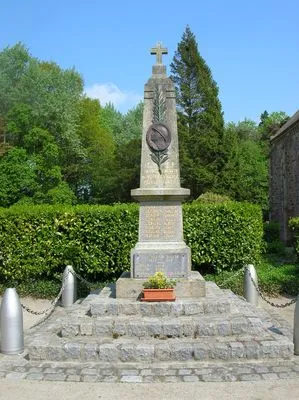
M27 343L30 360L165 362L290 358L294 346L284 336L223 336L203 339L42 338Z

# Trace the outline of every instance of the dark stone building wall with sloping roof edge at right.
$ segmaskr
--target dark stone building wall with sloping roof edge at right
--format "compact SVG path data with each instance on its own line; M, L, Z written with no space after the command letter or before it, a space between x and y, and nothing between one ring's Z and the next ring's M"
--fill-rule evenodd
M287 242L288 220L299 216L299 111L270 143L270 220L279 222L280 239Z

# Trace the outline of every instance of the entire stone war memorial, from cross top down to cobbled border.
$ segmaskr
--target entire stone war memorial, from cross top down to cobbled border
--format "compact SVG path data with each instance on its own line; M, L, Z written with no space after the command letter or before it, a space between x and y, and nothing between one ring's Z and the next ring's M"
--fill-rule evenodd
M0 355L2 377L85 382L196 382L299 375L284 321L192 272L183 238L174 85L158 43L144 90L139 238L114 285L57 307L26 332L25 352ZM177 279L176 301L141 302L156 271ZM288 373L286 373L286 371Z

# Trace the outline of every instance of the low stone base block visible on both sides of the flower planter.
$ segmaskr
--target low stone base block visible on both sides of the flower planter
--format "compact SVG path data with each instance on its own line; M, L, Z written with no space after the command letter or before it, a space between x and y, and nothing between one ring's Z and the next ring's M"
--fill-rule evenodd
M116 298L138 300L141 297L146 278L132 278L130 272L123 272L116 281ZM175 296L180 299L205 297L206 282L197 271L191 271L189 278L177 279Z

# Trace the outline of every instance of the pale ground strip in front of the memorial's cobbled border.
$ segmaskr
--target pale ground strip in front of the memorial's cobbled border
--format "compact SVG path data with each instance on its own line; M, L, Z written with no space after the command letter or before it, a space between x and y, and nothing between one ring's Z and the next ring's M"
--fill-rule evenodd
M208 383L72 383L0 380L1 400L298 400L299 380Z

